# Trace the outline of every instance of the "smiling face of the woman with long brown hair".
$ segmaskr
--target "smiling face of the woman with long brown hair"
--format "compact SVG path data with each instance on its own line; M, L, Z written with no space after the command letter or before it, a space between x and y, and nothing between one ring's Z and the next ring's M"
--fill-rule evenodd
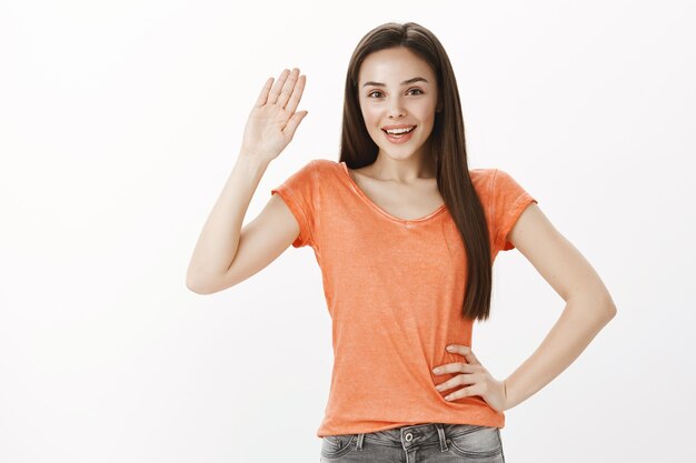
M379 155L421 155L437 109L437 79L426 61L404 47L379 50L362 61L358 94L365 125ZM408 133L387 133L392 129Z

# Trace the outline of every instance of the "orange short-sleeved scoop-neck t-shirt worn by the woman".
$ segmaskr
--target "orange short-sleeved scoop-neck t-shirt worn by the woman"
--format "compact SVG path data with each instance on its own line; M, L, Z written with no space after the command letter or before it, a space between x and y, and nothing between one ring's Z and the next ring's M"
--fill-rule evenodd
M506 241L519 214L537 202L499 169L471 169L491 243ZM332 323L334 370L317 436L357 434L420 423L503 427L505 414L481 396L446 401L435 375L465 362L445 346L471 346L473 320L460 315L466 281L464 243L445 204L419 219L396 218L374 203L345 162L315 159L278 193L297 219L292 246L310 245L321 269ZM460 389L460 387L456 387Z

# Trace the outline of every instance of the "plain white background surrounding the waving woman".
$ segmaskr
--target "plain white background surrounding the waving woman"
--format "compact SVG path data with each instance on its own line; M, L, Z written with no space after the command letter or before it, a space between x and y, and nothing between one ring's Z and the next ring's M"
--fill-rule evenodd
M312 462L332 362L310 248L186 288L268 77L307 74L270 189L338 159L358 40L416 21L448 50L469 165L513 174L593 263L618 315L506 412L513 462L695 461L696 7L689 1L0 4L0 462ZM563 300L496 261L474 349L494 376Z

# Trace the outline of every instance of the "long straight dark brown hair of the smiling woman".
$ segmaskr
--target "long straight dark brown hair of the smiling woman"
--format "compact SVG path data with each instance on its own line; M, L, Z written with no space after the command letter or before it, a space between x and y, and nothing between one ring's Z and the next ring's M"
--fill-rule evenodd
M488 225L467 164L459 90L445 48L432 32L415 22L388 22L369 31L350 58L339 162L351 169L371 164L379 151L360 112L358 73L365 58L379 50L405 47L424 59L437 76L441 111L436 112L426 143L436 160L437 187L451 214L467 255L467 281L461 315L486 320L490 312L493 260Z

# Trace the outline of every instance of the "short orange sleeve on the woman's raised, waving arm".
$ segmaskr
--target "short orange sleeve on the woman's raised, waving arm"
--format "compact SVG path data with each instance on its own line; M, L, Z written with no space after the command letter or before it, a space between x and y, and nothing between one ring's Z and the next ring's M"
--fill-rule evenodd
M285 182L274 188L270 194L280 194L282 201L295 215L300 227L300 233L292 242L294 248L310 245L314 248L314 218L315 193L317 190L315 161L311 160L300 170L290 175Z

